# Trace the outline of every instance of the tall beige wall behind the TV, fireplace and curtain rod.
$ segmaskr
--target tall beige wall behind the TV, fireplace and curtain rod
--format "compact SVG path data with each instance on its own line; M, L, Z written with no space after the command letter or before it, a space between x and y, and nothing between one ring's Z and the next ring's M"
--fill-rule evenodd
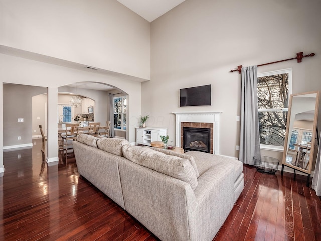
M293 93L321 90L321 2L187 0L151 23L151 81L142 83L142 115L148 126L167 127L175 142L180 111L223 111L220 154L238 157L240 74L250 66L296 57L314 57L258 68L258 72L293 69ZM179 89L212 85L212 106L179 107ZM263 154L282 159L282 152Z

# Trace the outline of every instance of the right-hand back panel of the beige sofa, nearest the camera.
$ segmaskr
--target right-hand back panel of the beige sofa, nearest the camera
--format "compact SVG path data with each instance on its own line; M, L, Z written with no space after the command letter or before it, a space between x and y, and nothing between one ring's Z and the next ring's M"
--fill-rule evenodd
M191 240L189 210L196 206L190 184L129 160L119 161L125 209L161 240Z

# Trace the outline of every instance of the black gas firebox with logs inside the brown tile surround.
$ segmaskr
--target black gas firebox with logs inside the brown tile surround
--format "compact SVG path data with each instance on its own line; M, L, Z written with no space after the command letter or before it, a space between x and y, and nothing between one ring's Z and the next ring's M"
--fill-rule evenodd
M211 128L183 127L183 149L211 153Z

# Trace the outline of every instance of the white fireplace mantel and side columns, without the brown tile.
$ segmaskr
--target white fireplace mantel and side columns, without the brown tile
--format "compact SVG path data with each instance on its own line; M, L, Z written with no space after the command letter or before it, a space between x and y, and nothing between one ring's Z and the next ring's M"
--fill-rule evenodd
M176 122L175 145L177 147L181 146L181 122L213 123L213 153L219 154L219 127L221 113L222 111L173 112L173 114L175 114Z

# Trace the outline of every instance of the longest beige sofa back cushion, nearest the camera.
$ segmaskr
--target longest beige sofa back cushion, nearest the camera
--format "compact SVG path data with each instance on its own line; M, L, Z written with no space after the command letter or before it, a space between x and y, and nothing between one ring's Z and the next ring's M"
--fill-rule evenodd
M193 190L197 186L196 173L189 159L130 144L123 146L123 155L141 166L189 183Z

